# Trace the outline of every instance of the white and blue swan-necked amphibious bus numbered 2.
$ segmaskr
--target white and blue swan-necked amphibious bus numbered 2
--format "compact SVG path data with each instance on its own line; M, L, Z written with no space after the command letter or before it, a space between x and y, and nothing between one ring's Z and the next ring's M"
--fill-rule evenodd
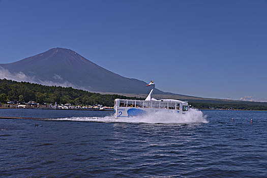
M150 114L158 111L167 111L173 113L186 114L189 110L189 105L185 101L173 99L156 100L152 98L155 84L153 81L146 86L152 86L150 94L145 100L125 100L115 99L114 102L114 117L130 117L142 114Z

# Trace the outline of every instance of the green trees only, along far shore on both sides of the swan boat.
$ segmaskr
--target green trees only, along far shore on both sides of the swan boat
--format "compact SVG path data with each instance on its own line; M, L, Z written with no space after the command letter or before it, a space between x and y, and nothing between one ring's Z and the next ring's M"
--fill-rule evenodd
M143 98L126 97L121 95L101 95L72 87L46 86L29 82L18 82L7 79L0 79L0 102L8 101L28 102L36 101L37 103L57 103L57 104L83 104L94 105L102 104L104 106L113 106L114 99L132 99L144 100ZM209 102L189 102L193 107L198 109L243 109L243 110L267 110L267 105L242 103L211 103Z

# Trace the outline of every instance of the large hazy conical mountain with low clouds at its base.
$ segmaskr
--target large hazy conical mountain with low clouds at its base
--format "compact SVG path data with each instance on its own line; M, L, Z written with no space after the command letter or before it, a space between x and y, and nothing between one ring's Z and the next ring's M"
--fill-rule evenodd
M151 90L144 81L115 74L64 48L53 48L0 67L0 78L17 81L72 86L91 92L147 94ZM156 89L155 94L164 92Z

